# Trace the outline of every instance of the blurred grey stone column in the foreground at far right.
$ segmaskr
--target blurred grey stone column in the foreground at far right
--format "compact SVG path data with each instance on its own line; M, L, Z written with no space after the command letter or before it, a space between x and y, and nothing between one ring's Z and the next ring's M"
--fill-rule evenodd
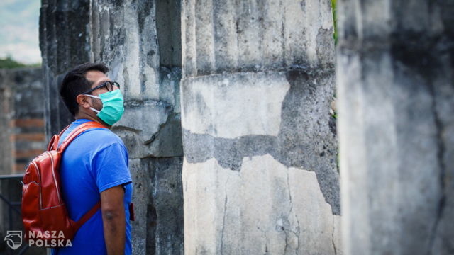
M345 254L453 254L453 1L338 7Z

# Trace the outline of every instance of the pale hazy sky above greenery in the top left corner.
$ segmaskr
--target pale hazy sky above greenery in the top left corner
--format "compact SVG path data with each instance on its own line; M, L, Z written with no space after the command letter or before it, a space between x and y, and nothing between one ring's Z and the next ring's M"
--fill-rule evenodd
M26 64L41 62L40 0L0 0L0 57Z

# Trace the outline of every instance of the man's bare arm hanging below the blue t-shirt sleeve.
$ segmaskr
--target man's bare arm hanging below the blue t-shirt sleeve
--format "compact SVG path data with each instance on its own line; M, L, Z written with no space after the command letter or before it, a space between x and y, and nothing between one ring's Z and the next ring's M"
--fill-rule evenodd
M108 188L101 192L101 213L107 254L125 253L126 219L123 205L122 186Z

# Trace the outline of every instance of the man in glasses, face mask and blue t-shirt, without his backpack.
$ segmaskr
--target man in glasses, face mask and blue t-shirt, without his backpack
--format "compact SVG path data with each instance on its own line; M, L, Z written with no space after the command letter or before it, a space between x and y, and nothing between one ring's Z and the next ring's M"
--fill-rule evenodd
M76 119L60 143L77 125L88 121L106 128L83 132L62 155L60 179L71 219L79 220L99 200L101 210L79 228L71 247L52 249L52 254L131 254L128 152L109 130L123 114L123 96L120 85L107 72L104 64L81 64L66 74L60 87L60 95Z

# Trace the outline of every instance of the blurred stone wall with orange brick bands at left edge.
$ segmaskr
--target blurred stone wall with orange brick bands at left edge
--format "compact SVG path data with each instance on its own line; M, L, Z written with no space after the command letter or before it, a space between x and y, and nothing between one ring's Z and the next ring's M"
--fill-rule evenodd
M0 174L20 174L45 149L41 69L0 69L0 90Z

